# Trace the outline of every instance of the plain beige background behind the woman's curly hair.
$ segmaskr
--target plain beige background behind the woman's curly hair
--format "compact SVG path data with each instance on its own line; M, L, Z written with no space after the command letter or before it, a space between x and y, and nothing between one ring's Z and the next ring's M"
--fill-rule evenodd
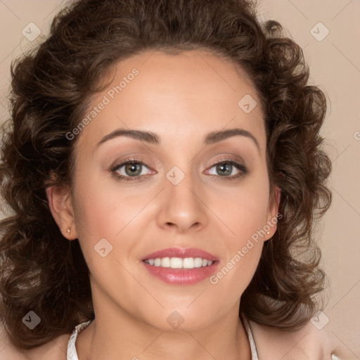
M0 0L0 120L8 117L10 63L49 31L60 0ZM360 359L360 1L263 0L262 18L274 18L297 41L311 70L310 84L328 97L323 136L333 160L333 204L318 226L323 267L330 278L321 321ZM317 25L319 22L323 25ZM29 41L22 30L34 23L41 35ZM313 29L314 30L311 30ZM316 37L329 34L319 41ZM1 351L1 347L0 347Z

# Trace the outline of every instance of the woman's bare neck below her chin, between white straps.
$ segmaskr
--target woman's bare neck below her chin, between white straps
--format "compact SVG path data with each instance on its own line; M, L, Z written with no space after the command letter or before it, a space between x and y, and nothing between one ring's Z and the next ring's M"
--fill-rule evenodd
M96 308L94 302L94 309L96 319L77 337L82 360L251 359L238 306L203 328L170 331L150 326L115 304L102 302Z

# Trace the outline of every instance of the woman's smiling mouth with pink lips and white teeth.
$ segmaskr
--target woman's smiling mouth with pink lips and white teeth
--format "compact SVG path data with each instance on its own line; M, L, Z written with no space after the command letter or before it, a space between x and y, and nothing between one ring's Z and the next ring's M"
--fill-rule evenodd
M210 277L219 258L196 248L168 248L143 257L148 274L173 285L192 285Z

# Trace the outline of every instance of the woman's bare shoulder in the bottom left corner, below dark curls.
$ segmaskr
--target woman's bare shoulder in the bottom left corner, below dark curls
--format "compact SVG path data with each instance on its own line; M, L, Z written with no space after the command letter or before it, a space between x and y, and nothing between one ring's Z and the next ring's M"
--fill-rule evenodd
M24 350L15 347L4 329L0 331L0 360L66 360L70 334L60 335L35 349Z

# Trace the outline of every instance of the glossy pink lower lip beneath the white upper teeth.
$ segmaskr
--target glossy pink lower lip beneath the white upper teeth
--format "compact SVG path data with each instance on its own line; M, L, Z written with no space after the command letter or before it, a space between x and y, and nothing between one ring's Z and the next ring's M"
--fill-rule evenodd
M194 269L172 269L170 267L153 266L143 262L146 270L165 283L174 285L192 285L209 278L217 268L217 262L210 266L197 267Z

